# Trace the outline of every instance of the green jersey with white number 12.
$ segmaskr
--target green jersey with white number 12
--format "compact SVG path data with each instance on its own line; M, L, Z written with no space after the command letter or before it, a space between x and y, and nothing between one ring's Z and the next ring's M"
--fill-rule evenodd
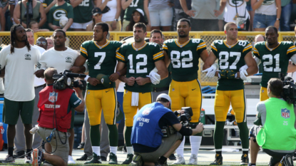
M147 78L150 71L155 68L155 61L162 60L164 58L163 51L157 43L145 43L141 48L134 48L133 43L126 43L121 46L119 51L116 53L118 61L126 63L126 78L142 77ZM132 92L151 92L152 83L146 83L145 85L138 85L135 83L130 86L126 84L125 89Z

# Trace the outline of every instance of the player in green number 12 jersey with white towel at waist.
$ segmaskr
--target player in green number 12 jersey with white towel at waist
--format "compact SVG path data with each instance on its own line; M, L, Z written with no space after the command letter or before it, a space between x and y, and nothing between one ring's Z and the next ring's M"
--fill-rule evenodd
M133 38L135 42L125 43L116 53L118 60L116 71L121 71L127 67L126 76L120 76L119 79L126 83L125 92L123 94L123 112L126 116L126 132L124 139L126 140L126 149L128 157L123 164L130 164L133 159L133 147L131 145L131 131L133 128L133 116L137 110L144 105L152 103L152 86L153 75L159 75L160 79L168 76L168 70L165 68L163 61L163 51L157 43L146 42L145 36L146 25L137 23L133 26ZM153 72L153 68L157 68L158 73ZM141 147L138 147L138 149Z

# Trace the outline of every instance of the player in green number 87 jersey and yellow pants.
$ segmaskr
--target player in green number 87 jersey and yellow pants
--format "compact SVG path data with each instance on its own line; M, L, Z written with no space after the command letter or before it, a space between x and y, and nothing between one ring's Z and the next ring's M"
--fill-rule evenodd
M243 78L257 73L258 68L252 58L252 44L249 41L238 40L238 26L230 22L225 24L226 40L214 41L211 45L210 56L205 61L203 68L207 68L208 77L218 76L215 95L215 161L210 165L223 165L222 144L224 125L230 103L235 112L235 119L240 129L240 140L243 147L243 156L240 165L249 162L249 139L245 110L245 92ZM218 59L219 71L216 71L215 60ZM246 64L246 65L245 65ZM203 71L203 72L205 72ZM212 74L214 73L214 74Z

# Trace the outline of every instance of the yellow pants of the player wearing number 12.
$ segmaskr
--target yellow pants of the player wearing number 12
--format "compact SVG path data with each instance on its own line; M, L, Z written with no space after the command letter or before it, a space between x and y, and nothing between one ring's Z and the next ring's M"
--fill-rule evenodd
M126 127L133 126L133 117L136 115L138 109L140 110L144 105L152 103L150 92L139 93L138 106L131 106L131 93L131 91L124 90L123 94L123 112L126 116Z

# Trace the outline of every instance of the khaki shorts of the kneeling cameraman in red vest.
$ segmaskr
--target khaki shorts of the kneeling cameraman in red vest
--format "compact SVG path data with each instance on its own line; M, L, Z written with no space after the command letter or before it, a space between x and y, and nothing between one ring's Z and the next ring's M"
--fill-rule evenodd
M46 137L49 137L51 135L53 129L49 128L41 128L39 126L38 133L41 136L43 140L46 140ZM58 137L61 138L59 138ZM63 144L62 142L66 142L66 144ZM57 145L56 145L57 142ZM69 143L68 143L68 133L63 133L60 131L55 131L55 134L53 134L53 137L51 139L52 151L56 150L56 152L53 152L53 155L58 155L63 159L64 162L68 163L68 153L69 153Z

